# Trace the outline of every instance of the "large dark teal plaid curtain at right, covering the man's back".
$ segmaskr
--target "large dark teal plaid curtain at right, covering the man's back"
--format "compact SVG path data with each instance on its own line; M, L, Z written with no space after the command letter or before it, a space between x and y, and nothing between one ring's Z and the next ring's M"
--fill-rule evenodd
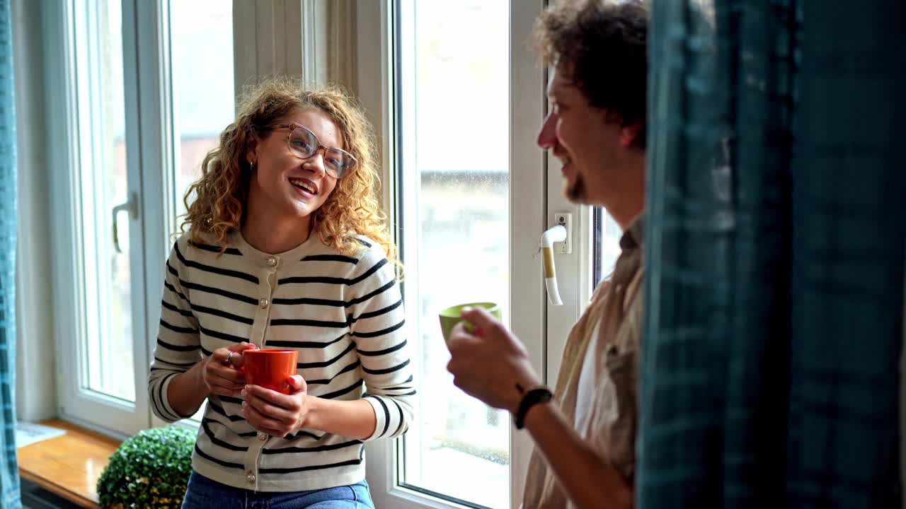
M901 0L651 0L637 503L896 507Z

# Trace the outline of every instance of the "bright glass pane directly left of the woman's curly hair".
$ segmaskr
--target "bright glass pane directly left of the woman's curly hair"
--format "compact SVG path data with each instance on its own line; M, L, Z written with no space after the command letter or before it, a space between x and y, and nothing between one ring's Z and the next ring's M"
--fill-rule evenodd
M189 184L201 177L202 160L235 117L233 3L171 2L169 15L176 149L170 210L178 217L186 212L183 196ZM180 221L172 225L174 232ZM200 421L204 410L202 405L192 418Z

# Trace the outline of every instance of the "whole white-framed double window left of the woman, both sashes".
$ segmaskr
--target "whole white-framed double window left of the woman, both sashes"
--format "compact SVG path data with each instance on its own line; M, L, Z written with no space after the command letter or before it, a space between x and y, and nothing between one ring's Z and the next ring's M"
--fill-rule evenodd
M232 5L70 0L47 12L63 416L130 435L182 195L234 116ZM141 23L138 20L141 19ZM56 87L56 88L54 88ZM146 248L147 246L147 248Z

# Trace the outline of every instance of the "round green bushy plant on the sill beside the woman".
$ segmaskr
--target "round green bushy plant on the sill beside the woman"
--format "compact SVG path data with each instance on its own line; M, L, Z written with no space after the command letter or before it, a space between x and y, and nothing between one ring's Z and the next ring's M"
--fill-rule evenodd
M101 507L179 507L192 473L195 433L184 427L145 429L111 456L98 479Z

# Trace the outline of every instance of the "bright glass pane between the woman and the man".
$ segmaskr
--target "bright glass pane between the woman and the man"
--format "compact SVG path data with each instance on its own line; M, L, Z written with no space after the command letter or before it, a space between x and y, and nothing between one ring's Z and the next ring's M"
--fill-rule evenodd
M400 455L403 483L509 507L509 417L453 386L438 323L448 306L487 301L508 322L509 5L407 6L414 12L400 15L410 20L400 23L400 164L404 181L418 184L403 185L410 196L402 223L417 234L402 250L403 262L418 267L404 291L419 315L421 400Z

